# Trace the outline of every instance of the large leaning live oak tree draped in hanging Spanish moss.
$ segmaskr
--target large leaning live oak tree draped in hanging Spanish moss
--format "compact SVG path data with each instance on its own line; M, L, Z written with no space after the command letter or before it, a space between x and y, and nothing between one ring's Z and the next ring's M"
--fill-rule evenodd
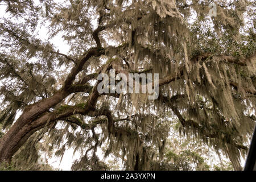
M0 162L73 147L83 155L74 169L106 169L96 150L108 143L105 156L119 154L126 169L157 169L177 118L181 135L242 169L255 123L255 1L214 1L216 16L210 3L0 1ZM112 68L159 73L158 99L98 93L98 74Z

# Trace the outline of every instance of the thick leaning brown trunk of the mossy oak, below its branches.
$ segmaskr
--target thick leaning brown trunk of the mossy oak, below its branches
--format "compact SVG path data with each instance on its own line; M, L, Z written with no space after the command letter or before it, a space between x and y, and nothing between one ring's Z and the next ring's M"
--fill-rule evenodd
M0 163L10 163L12 156L26 142L26 140L46 126L51 113L49 108L58 104L68 93L62 91L56 92L52 97L46 98L33 105L28 105L22 115L0 139Z

